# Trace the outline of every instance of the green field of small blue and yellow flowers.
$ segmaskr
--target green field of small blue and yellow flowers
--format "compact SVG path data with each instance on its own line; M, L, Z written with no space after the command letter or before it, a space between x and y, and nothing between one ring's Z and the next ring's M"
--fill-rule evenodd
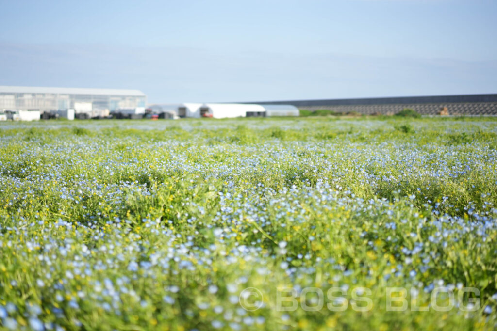
M0 123L0 329L497 327L497 120Z

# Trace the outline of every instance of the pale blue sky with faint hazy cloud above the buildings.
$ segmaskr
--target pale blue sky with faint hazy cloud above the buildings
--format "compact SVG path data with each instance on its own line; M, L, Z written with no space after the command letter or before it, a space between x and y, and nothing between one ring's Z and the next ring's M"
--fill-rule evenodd
M0 0L0 85L151 103L497 93L497 1Z

